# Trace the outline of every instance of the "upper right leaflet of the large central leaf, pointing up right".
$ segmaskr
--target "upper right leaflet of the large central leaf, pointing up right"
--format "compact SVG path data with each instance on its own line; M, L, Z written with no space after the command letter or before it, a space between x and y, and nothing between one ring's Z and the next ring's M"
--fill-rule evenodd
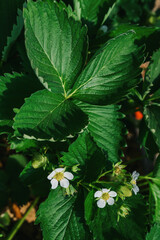
M90 60L70 96L91 104L112 104L139 82L143 54L130 31L110 40Z

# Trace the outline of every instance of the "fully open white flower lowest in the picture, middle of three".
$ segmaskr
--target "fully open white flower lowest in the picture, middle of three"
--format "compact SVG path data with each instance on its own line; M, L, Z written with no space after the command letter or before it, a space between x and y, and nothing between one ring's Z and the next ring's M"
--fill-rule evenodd
M117 196L116 192L110 191L109 189L106 189L106 188L102 188L101 191L97 191L94 194L94 197L98 198L97 206L99 208L104 208L106 206L106 202L109 205L113 205L114 204L113 197L116 197L116 196Z

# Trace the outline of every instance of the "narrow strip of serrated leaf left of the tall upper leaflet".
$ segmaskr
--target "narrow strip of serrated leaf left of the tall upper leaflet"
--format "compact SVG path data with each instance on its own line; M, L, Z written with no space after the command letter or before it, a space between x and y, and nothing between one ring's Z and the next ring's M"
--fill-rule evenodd
M7 38L7 45L4 47L4 50L2 52L2 61L6 62L8 58L8 54L10 49L12 48L13 44L19 37L21 31L23 28L23 16L22 11L18 9L18 16L17 16L17 23L13 25L13 29L11 32L10 37Z

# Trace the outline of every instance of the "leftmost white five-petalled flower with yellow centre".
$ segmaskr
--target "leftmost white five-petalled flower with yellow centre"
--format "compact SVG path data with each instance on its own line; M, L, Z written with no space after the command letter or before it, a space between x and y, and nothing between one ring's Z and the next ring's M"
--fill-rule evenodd
M58 182L60 182L61 187L68 188L69 180L73 179L73 174L70 172L65 172L65 168L56 168L48 175L48 179L51 180L51 188L55 189L58 187Z

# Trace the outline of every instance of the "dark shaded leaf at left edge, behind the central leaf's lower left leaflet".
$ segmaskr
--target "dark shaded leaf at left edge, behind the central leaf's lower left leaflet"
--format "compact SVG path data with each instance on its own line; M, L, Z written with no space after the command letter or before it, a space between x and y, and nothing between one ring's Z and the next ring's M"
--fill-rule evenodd
M42 89L42 86L34 76L19 73L6 73L1 76L0 120L12 120L15 115L13 108L20 108L24 103L24 98L39 89Z

